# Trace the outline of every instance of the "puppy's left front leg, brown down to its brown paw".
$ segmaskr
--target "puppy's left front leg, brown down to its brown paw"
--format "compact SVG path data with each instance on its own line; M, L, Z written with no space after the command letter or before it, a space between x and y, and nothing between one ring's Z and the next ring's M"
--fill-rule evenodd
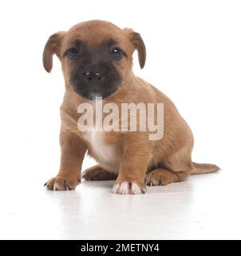
M48 190L74 190L81 182L81 165L86 145L76 134L61 132L61 166L55 178L45 183Z

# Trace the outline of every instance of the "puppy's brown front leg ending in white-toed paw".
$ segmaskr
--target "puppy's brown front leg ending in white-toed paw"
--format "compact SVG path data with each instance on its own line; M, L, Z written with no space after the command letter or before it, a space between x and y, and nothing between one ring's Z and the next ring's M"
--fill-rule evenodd
M136 137L136 136L135 136ZM113 186L116 194L141 194L145 192L144 177L151 153L143 138L126 139L123 146L119 175Z

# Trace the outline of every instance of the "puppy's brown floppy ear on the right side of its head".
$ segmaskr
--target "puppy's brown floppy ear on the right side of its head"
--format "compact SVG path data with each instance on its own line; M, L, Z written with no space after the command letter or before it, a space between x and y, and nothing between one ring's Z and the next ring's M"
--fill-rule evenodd
M144 41L139 33L134 32L131 29L124 29L124 32L128 34L129 40L132 42L135 50L138 52L138 59L140 63L140 68L144 68L144 63L146 59L146 50L144 46Z

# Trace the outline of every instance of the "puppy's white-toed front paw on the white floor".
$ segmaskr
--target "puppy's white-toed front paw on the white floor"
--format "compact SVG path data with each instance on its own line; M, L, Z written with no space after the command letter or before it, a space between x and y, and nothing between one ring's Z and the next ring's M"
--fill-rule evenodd
M115 194L144 194L145 188L140 188L136 182L121 182L113 186Z

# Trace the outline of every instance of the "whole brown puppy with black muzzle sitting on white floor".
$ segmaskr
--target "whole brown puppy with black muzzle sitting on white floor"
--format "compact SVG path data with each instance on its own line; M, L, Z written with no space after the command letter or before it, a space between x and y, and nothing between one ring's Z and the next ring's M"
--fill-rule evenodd
M43 53L45 70L50 72L53 54L57 54L66 89L61 105L61 166L56 178L46 182L49 190L73 190L81 182L85 152L99 165L85 170L83 178L117 178L113 187L117 194L140 194L146 184L167 185L184 181L189 174L219 170L215 165L192 162L192 131L169 98L132 73L135 50L143 68L146 51L140 34L98 20L82 22L49 38ZM163 102L163 138L150 140L149 131L129 129L81 131L77 108L81 103L94 105L97 96L103 104L114 102L120 107L123 102Z

